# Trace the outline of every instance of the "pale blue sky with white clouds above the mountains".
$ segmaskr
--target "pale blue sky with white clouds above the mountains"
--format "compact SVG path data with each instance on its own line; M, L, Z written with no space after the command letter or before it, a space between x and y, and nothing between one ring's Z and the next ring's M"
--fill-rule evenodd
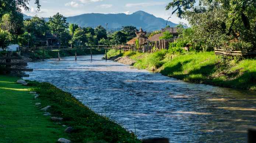
M41 11L36 11L34 1L30 2L30 11L24 11L29 16L50 17L57 12L65 17L85 13L132 14L138 10L148 12L156 17L168 19L172 10L165 11L165 6L172 0L40 0ZM170 21L174 23L184 22L173 15Z

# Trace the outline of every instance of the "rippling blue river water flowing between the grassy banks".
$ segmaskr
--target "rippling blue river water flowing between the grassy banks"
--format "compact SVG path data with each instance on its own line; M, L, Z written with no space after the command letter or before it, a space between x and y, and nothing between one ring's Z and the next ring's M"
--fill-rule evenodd
M136 133L170 142L247 142L256 127L256 92L191 84L103 55L28 63L29 80L49 82Z

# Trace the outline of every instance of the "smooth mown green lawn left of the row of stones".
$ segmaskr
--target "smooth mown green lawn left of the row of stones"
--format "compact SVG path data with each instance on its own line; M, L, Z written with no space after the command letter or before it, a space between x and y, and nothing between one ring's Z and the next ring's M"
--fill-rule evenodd
M29 88L16 77L0 75L0 143L54 143L64 127L43 116Z

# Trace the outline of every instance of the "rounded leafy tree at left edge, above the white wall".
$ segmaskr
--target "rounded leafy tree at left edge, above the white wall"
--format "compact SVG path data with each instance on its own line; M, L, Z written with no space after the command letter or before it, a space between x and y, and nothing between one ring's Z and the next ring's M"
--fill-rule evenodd
M0 29L0 49L5 50L11 44L12 36L7 30Z

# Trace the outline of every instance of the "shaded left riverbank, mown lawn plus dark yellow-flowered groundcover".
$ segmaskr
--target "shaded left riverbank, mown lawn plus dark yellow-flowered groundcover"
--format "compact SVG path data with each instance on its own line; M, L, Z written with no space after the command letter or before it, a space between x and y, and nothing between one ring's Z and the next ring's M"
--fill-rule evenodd
M60 137L72 142L140 142L133 133L122 126L94 113L64 92L49 83L29 82L27 87L16 84L18 78L0 75L0 142L52 143ZM29 94L35 91L37 99ZM35 103L41 103L36 107ZM40 109L48 110L52 117L62 117L61 125L43 116ZM73 127L71 133L64 133L62 125Z

